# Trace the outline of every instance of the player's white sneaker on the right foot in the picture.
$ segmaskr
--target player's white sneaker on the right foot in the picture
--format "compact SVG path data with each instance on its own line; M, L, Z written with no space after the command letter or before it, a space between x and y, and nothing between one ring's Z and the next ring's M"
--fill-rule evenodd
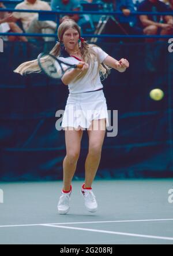
M96 196L92 192L92 188L84 189L84 185L85 184L82 185L81 193L82 193L82 196L84 197L85 207L91 213L95 213L98 207Z

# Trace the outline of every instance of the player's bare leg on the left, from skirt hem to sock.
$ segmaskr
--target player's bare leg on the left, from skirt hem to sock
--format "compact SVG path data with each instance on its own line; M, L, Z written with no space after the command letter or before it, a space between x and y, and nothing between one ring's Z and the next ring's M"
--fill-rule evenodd
M70 191L70 185L76 171L82 134L82 130L65 130L66 156L63 160L63 189L65 191Z

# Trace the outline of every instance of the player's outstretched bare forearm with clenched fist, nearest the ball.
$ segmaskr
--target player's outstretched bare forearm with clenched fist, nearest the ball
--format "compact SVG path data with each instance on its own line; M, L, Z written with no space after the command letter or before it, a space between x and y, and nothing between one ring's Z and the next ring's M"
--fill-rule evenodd
M127 61L126 58L121 58L121 60L118 61L111 56L107 56L103 63L119 72L125 72L126 68L129 68L129 61Z

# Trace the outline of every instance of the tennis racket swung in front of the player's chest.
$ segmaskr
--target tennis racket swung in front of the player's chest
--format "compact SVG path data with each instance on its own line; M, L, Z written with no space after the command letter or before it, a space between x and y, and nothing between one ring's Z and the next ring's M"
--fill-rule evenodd
M40 69L51 78L61 79L72 68L82 68L83 64L72 65L59 60L52 54L40 53L37 57Z

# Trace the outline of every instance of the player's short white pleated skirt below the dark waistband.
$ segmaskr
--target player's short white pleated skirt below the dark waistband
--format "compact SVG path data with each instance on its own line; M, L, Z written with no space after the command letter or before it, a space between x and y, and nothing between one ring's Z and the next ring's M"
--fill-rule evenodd
M61 127L78 126L88 129L92 120L106 119L109 126L106 98L103 90L87 93L69 93Z

